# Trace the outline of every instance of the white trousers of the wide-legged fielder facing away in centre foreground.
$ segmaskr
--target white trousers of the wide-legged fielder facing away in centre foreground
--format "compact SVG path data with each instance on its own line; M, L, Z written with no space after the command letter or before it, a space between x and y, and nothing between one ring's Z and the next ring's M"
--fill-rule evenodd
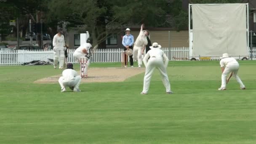
M151 77L152 77L152 74L153 74L155 68L157 68L159 70L160 75L162 76L162 81L163 81L163 85L166 88L166 92L167 93L171 92L171 85L169 82L169 78L168 78L166 69L163 64L163 58L155 58L155 57L150 57L149 61L147 62L142 92L148 93L150 80L151 80Z

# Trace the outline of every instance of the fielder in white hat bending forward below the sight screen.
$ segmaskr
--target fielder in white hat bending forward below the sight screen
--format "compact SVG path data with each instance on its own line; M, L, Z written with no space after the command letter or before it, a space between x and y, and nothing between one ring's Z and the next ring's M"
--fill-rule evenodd
M222 54L222 59L219 62L221 65L221 87L218 90L226 90L226 84L229 82L229 79L232 77L232 75L235 77L237 82L240 84L241 90L245 89L245 85L243 84L242 80L238 77L238 69L239 69L239 64L238 62L232 58L229 57L228 53L223 53ZM231 72L231 73L230 73ZM227 75L230 73L229 77L226 80Z

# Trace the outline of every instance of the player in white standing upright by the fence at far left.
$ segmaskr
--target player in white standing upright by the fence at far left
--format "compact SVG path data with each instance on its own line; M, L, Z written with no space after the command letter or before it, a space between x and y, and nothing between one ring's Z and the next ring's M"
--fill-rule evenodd
M64 51L66 50L65 47L65 40L64 36L62 35L62 30L59 29L57 34L53 37L53 51L54 51L54 64L53 67L56 69L56 66L59 61L59 69L63 69L64 67Z

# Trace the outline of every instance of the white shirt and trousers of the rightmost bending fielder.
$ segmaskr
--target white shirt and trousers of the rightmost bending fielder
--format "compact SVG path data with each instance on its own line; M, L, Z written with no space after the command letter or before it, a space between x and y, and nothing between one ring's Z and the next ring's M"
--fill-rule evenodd
M226 88L226 77L230 72L233 72L233 76L235 77L237 82L240 84L240 87L241 88L245 87L242 80L237 75L239 70L239 64L234 58L232 57L223 58L220 61L220 65L221 67L225 68L221 74L221 88Z

